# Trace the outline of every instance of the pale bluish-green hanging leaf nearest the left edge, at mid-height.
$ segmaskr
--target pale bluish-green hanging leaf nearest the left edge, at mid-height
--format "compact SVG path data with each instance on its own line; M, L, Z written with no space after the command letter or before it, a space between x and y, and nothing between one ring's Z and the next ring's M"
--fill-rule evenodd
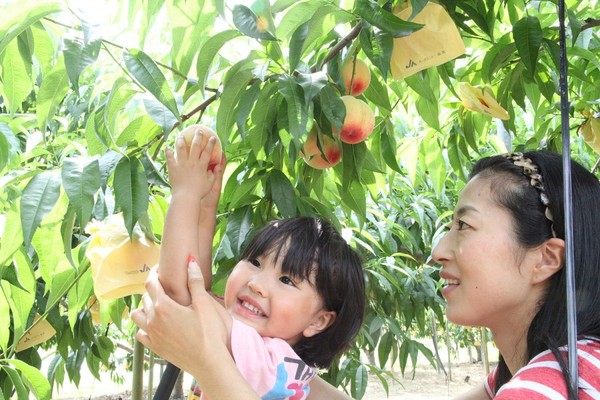
M29 181L21 197L21 225L26 247L42 219L52 210L60 194L59 171L44 171Z

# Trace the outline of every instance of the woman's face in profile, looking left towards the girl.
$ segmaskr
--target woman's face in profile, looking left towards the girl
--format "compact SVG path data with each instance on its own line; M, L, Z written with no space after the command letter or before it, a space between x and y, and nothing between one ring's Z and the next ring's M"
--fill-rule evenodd
M535 251L520 246L512 217L479 176L464 188L450 231L433 251L442 265L448 319L456 324L526 329L539 298L531 290Z

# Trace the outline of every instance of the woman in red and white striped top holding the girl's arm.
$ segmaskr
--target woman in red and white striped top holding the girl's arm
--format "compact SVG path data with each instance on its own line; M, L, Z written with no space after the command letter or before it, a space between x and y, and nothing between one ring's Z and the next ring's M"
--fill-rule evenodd
M577 389L567 384L564 349L562 179L562 159L550 152L480 160L459 198L450 231L434 249L433 258L442 266L440 276L446 283L448 319L488 327L501 354L485 384L462 399L574 398ZM572 189L578 393L580 399L592 399L600 397L600 183L573 162ZM190 273L191 279L197 279L198 272ZM140 314L134 316L141 329L138 339L192 373L215 398L258 398L239 376L222 376L234 374L235 367L230 357L224 357L225 343L215 345L216 338L224 336L223 328L200 321L213 321L201 286L190 283L194 304L181 310L165 299L168 296L156 279L150 278L146 313L138 310ZM185 322L178 322L182 318ZM169 334L177 332L173 325L187 326L190 321L201 334L170 343ZM213 366L216 359L220 362ZM348 398L322 380L313 382L311 399ZM246 390L243 397L239 390Z

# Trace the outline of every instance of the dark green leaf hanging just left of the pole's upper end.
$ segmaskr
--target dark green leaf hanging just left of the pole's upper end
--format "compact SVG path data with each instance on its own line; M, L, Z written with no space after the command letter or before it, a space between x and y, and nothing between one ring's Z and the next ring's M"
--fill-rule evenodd
M524 17L513 26L513 38L521 61L533 76L538 61L540 46L544 39L540 21L533 15Z

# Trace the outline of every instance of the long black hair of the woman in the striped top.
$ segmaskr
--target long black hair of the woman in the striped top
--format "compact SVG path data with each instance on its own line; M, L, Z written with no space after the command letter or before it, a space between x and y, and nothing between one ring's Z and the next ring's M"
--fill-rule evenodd
M504 156L479 160L470 178L479 175L491 181L491 190L498 204L508 210L513 219L518 242L532 248L552 237L565 239L563 164L559 154L549 151L523 153L537 165L550 201L551 222L544 215L540 192L530 184L523 168ZM573 267L577 303L577 335L600 338L600 183L580 164L571 162L573 206ZM563 262L564 263L564 262ZM563 265L564 267L564 265ZM567 297L565 268L550 278L546 296L527 332L527 361L550 349L558 360L569 398L575 398L570 385L567 362L558 348L567 345ZM500 357L498 379L494 391L512 378Z

